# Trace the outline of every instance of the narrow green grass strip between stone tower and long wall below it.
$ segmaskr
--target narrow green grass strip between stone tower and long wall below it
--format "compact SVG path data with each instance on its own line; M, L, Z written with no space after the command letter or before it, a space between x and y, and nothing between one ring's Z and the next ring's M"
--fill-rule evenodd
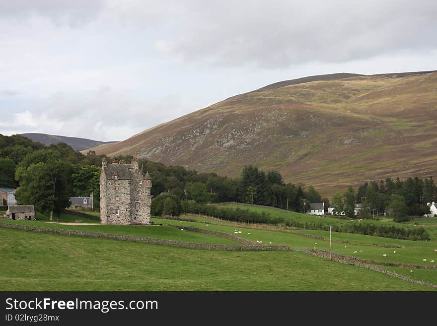
M197 232L181 231L166 225L62 225L59 223L46 223L39 221L12 221L0 219L3 223L14 223L22 225L31 225L46 228L65 229L65 230L82 230L90 232L111 233L134 235L146 238L156 238L165 240L207 243L218 245L241 245L236 241L224 239L214 235L208 235Z

